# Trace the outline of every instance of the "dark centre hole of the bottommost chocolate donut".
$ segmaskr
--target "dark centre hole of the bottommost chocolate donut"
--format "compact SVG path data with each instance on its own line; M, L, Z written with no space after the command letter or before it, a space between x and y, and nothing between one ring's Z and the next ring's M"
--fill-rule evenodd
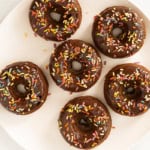
M81 132L93 132L94 130L92 121L84 114L78 114L77 126Z

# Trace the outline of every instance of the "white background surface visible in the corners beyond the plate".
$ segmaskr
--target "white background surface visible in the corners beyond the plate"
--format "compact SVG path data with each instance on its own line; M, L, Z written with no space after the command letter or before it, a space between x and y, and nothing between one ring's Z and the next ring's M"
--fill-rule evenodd
M0 0L0 23L21 0ZM120 0L121 1L121 0ZM150 17L150 1L148 0L131 0L135 4L140 5L144 13ZM131 133L132 134L132 133ZM132 150L149 150L150 134L146 135L139 143L133 146ZM22 150L7 133L0 127L0 149L1 150Z

